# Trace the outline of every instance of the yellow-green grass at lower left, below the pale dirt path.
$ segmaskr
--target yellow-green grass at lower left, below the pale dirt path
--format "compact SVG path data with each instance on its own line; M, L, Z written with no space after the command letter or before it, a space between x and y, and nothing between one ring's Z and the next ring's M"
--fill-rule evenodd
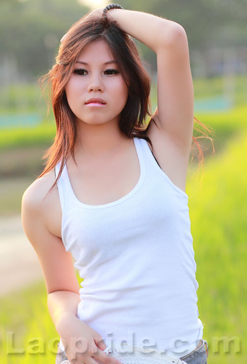
M58 334L47 309L44 282L36 283L28 289L1 299L1 307L0 318L4 327L1 329L1 341L3 342L0 354L1 363L55 363L55 354L52 355L47 350L47 345L48 341L58 337ZM13 332L12 338L10 336L7 341L6 334L11 335L11 332ZM34 338L41 338L40 345L44 344L45 354L28 353L30 340ZM34 343L37 344L37 341ZM12 347L25 349L25 352L12 354ZM7 350L9 354L7 354Z

